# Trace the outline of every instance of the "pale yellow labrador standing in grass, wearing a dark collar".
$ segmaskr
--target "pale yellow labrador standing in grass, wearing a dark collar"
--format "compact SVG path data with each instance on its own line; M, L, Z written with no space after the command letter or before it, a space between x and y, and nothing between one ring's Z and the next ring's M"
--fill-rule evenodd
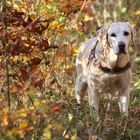
M134 37L135 30L128 22L115 22L101 27L96 37L79 48L75 85L78 104L87 90L89 105L98 116L100 94L117 92L120 112L128 115L132 78L128 46L134 43Z

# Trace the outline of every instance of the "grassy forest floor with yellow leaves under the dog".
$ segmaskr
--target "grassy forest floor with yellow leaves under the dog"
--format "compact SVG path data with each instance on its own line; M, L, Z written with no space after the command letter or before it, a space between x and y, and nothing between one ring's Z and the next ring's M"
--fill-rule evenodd
M123 118L119 112L117 98L113 99L111 110L107 113L106 98L102 97L101 118L96 122L87 97L82 107L78 109L74 97L74 84L69 85L68 90L64 91L57 81L55 82L57 92L47 92L42 97L35 95L33 91L33 94L30 94L32 98L30 103L23 101L22 96L19 99L13 94L10 111L5 106L7 104L5 95L1 94L0 140L97 140L96 138L98 140L140 140L139 60L137 63L133 74L127 119ZM68 85L67 82L66 85Z

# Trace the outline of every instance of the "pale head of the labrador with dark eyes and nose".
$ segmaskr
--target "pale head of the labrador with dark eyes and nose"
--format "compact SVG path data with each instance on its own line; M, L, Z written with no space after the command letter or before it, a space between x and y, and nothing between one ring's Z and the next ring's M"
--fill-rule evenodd
M131 41L134 44L135 33L135 29L128 22L106 24L97 31L97 38L106 46L105 49L108 48L107 55L113 65L118 57L129 55L128 46Z

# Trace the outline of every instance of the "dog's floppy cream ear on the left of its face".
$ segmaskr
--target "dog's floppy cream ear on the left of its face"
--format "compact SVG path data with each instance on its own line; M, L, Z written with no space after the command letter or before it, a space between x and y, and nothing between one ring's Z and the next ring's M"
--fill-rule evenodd
M97 30L96 36L99 41L102 42L102 45L108 44L108 29L110 27L110 24L105 24L100 29Z

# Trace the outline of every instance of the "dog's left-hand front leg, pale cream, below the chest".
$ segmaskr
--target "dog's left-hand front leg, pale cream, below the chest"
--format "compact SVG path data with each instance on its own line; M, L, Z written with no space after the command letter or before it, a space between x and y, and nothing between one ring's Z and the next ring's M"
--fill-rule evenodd
M88 84L88 102L94 108L96 117L99 118L99 97L92 84Z

